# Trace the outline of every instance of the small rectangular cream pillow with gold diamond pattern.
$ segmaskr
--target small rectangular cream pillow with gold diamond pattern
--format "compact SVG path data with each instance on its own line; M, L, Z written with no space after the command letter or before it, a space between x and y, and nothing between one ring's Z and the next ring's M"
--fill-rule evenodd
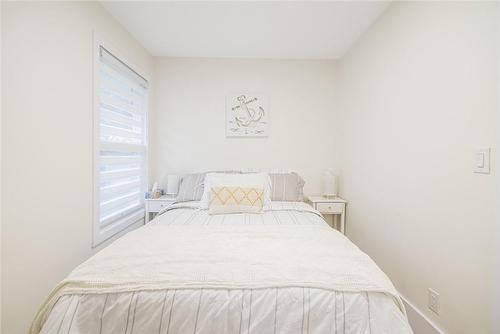
M212 187L208 206L211 215L224 213L260 213L264 205L264 189L247 187Z

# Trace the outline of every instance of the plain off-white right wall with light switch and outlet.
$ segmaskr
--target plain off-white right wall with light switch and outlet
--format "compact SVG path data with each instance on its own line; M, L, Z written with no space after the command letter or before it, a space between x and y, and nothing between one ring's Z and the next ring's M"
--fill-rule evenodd
M496 6L395 2L338 64L348 236L453 334L492 333L498 167L472 166L498 149Z

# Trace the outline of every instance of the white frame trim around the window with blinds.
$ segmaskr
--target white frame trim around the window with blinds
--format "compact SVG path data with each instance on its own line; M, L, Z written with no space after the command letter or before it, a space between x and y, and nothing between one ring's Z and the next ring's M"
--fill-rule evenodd
M115 58L120 60L123 64L129 67L132 71L139 74L148 82L148 94L146 98L145 107L145 150L144 150L144 184L143 189L147 190L149 185L149 98L151 89L150 76L143 71L139 66L134 64L128 57L126 57L120 50L115 48L111 43L103 39L98 33L93 32L93 71L92 71L92 85L93 85L93 112L92 112L92 248L101 245L103 242L113 238L117 234L126 231L131 226L145 223L145 214L137 220L123 221L110 224L105 228L100 225L100 49L103 47ZM145 210L144 210L145 212Z

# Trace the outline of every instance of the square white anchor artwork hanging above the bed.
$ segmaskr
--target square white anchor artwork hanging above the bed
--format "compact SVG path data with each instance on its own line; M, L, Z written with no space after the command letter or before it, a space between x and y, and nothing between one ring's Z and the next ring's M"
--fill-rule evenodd
M269 99L259 93L226 95L226 137L267 137Z

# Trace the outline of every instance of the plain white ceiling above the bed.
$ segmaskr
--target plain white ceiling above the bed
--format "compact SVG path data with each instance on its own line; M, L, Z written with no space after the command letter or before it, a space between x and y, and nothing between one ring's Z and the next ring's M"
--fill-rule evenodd
M101 1L153 56L337 59L389 1Z

